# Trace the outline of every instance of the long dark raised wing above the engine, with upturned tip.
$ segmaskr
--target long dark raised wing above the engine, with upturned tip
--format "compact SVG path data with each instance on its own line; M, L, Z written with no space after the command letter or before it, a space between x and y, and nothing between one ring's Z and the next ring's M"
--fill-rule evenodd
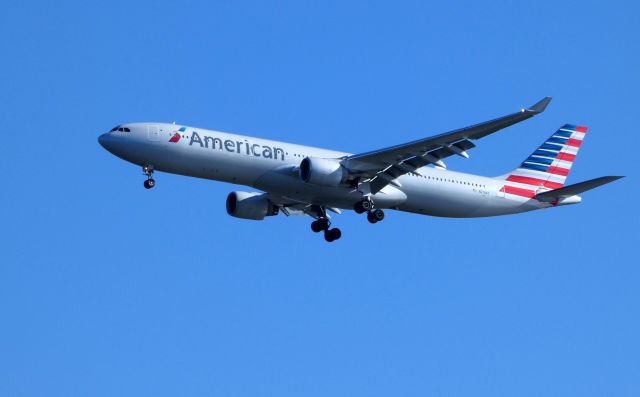
M468 158L467 150L475 147L472 140L483 138L510 125L524 121L536 114L544 112L551 102L546 97L528 109L522 109L504 117L475 124L470 127L435 135L425 139L355 154L342 160L342 164L361 181L371 183L371 192L377 193L389 183L398 185L397 177L428 164L445 168L442 159L459 155Z

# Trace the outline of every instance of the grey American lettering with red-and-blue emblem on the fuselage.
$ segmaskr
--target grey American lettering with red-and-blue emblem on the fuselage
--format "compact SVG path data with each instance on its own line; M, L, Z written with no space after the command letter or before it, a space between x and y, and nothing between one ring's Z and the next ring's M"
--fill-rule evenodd
M184 127L180 128L178 132L169 139L169 142L178 142L181 136L180 132L183 132L184 130ZM229 153L245 154L247 156L264 157L266 159L281 161L284 161L285 155L284 149L277 146L261 145L249 141L248 139L222 140L208 135L204 135L204 138L202 138L195 131L191 133L191 138L189 140L189 146L193 145L199 145L203 149L224 150Z

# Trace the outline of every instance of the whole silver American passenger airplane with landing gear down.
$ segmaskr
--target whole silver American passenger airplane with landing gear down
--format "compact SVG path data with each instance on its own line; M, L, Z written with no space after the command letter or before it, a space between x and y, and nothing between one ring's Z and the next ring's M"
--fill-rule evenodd
M245 185L226 199L231 216L263 220L309 215L328 242L342 236L329 212L354 210L370 223L385 209L438 217L474 218L522 213L581 202L579 194L622 176L565 185L587 127L565 124L513 171L497 177L449 171L444 159L469 158L489 134L542 113L551 97L490 121L366 153L351 154L176 125L120 124L99 136L112 154L142 167L144 187L155 171Z

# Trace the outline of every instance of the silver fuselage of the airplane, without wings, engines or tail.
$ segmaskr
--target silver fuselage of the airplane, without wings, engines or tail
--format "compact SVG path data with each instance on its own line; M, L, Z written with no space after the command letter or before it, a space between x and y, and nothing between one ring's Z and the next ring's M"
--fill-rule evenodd
M175 124L123 126L130 131L103 134L100 144L124 160L151 165L156 171L250 186L292 201L341 209L352 209L366 193L349 186L312 185L298 175L305 157L335 159L350 153ZM500 179L432 167L418 171L400 176L396 186L389 184L372 196L376 206L456 218L551 206L535 199L505 196Z

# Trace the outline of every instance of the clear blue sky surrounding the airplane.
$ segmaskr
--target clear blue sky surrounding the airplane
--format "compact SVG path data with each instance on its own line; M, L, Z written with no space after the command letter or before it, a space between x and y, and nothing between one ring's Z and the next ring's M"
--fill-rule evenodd
M0 396L637 396L633 2L28 2L0 12ZM140 170L126 121L361 152L544 115L451 169L590 127L581 205L489 219L230 218Z

